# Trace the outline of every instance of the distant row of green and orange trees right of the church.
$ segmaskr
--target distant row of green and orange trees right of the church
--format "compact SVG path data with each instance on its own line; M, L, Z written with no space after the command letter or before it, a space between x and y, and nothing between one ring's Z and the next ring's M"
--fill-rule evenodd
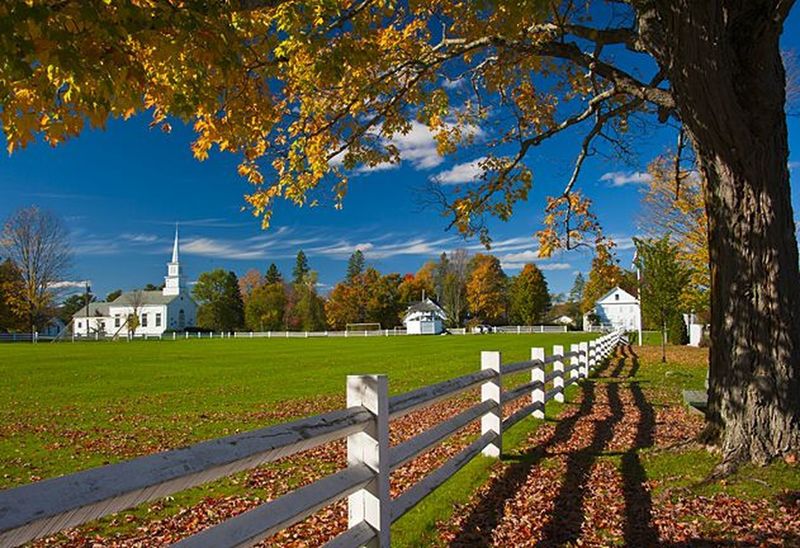
M192 294L200 307L199 326L215 330L342 330L356 323L391 328L401 325L411 303L425 297L444 309L448 327L543 323L551 308L547 280L536 265L508 276L497 257L465 250L442 253L405 275L382 274L356 250L344 279L327 297L300 251L291 280L274 263L241 278L217 269L201 274Z

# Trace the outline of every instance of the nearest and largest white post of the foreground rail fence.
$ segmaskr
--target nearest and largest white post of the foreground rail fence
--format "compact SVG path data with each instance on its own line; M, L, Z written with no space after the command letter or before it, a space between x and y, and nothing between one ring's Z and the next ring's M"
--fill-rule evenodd
M355 527L366 521L377 531L377 542L388 548L391 524L389 494L389 389L386 375L348 375L347 407L363 406L374 419L361 432L347 437L347 464L366 464L375 480L347 498L347 522Z

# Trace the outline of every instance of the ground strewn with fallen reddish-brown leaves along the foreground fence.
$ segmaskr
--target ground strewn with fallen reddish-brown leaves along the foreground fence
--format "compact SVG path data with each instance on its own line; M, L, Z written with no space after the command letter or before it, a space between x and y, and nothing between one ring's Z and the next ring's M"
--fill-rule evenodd
M717 457L692 442L702 417L680 398L682 388L702 387L705 351L670 348L667 364L659 363L658 352L625 348L592 379L570 389L566 405L548 406L547 420L520 423L506 436L500 461L479 457L471 462L440 490L446 495L437 492L393 527L393 545L800 545L800 470L780 462L705 482ZM286 420L340 407L340 399L297 400L250 419ZM475 401L473 391L393 422L392 443ZM505 413L523 403L507 406ZM209 415L206 420L219 419ZM392 477L393 496L455 454L477 431L473 424L399 469ZM124 433L96 441L102 437L76 436L70 443L137 452ZM36 545L169 544L344 465L344 444L329 444ZM338 503L264 545L319 546L345 527L346 507Z

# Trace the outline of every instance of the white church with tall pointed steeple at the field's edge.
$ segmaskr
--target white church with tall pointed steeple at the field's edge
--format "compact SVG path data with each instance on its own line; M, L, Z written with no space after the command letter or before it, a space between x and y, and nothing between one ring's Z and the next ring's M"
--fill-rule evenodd
M178 248L176 228L172 260L167 263L162 290L126 291L111 302L90 303L88 311L84 307L73 315L73 333L84 337L148 337L196 325L197 303L186 289ZM134 317L138 322L132 321Z

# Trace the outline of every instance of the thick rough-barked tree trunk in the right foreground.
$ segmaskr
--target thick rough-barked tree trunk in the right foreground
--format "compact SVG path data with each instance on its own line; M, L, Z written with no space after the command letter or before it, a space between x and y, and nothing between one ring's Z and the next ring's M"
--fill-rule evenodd
M723 469L800 450L800 273L779 49L787 4L674 0L640 10L706 180L708 431Z

